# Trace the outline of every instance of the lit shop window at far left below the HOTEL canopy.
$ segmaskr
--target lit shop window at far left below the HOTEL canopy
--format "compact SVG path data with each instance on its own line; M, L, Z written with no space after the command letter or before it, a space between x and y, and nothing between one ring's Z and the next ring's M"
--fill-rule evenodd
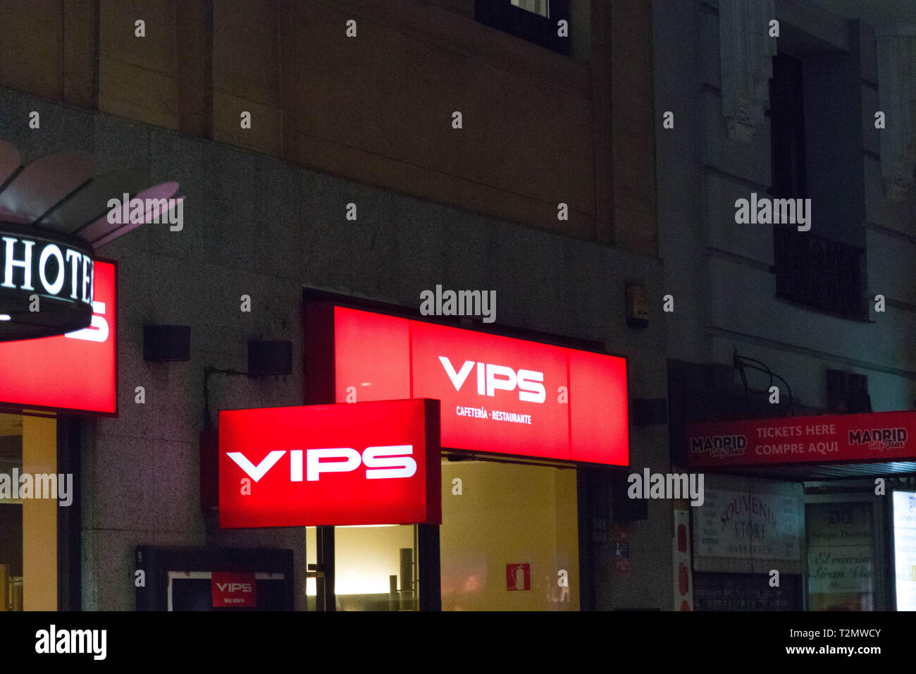
M39 498L49 481L32 482L56 472L56 420L0 414L0 611L57 610L59 500ZM20 492L23 475L30 492Z

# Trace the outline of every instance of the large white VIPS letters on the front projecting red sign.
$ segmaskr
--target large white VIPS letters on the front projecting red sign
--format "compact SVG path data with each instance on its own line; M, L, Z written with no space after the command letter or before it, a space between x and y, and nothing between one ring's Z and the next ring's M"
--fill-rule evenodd
M413 454L413 445L366 447L362 455L352 447L327 447L304 451L305 476L306 481L309 482L318 481L322 473L351 472L359 468L360 463L365 464L366 480L409 478L417 472L417 462L407 456ZM289 481L302 481L302 452L302 449L289 451ZM238 467L245 470L245 473L254 481L263 478L267 470L273 468L285 454L285 450L274 450L255 465L242 452L226 452L226 456L234 460Z

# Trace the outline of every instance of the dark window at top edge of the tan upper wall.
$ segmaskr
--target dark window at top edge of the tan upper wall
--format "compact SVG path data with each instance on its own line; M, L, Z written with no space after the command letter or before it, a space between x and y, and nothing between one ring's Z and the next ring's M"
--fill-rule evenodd
M569 56L570 39L557 35L570 21L570 0L474 0L474 18L549 50Z

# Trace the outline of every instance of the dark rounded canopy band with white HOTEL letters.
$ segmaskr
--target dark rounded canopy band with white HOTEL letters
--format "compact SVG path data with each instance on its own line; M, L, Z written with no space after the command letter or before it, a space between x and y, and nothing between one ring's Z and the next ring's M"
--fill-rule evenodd
M81 239L0 224L0 341L89 326L93 267Z

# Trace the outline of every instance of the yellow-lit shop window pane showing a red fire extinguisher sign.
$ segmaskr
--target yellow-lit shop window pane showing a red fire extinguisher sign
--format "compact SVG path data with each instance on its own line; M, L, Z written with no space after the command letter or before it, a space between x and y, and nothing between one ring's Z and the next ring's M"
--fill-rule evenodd
M576 471L442 461L443 611L578 611Z

